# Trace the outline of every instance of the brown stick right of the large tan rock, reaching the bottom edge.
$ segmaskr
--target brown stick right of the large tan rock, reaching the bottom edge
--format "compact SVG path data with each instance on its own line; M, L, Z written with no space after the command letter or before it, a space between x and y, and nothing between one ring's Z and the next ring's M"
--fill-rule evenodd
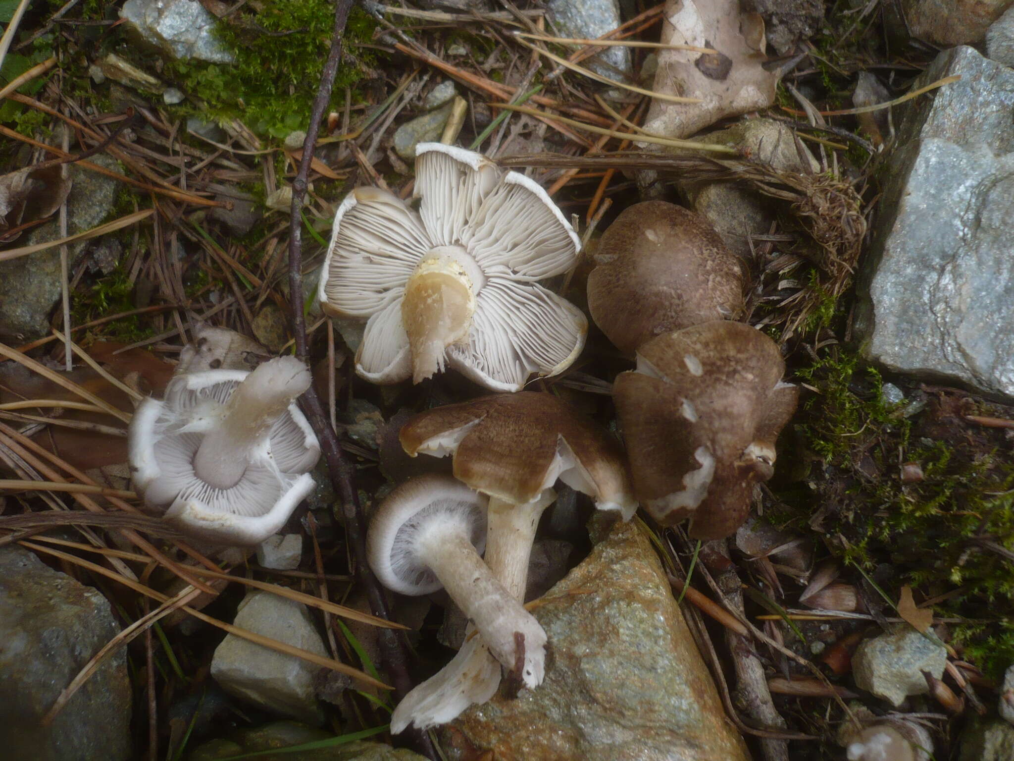
M715 574L725 597L725 603L740 616L743 612L742 583L735 566L729 559L725 540L709 542L710 552L702 552L701 559ZM725 641L732 654L736 672L736 703L744 707L745 713L766 727L785 727L785 719L775 708L768 687L768 677L764 665L753 651L750 641L731 629L725 630ZM760 749L767 761L789 761L789 746L785 740L762 738Z

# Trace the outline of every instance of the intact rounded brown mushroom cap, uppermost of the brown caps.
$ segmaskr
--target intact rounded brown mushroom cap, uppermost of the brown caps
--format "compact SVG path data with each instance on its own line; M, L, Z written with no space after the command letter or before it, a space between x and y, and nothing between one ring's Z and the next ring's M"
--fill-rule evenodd
M602 233L588 310L625 354L655 336L743 308L739 260L700 214L667 203L628 207Z

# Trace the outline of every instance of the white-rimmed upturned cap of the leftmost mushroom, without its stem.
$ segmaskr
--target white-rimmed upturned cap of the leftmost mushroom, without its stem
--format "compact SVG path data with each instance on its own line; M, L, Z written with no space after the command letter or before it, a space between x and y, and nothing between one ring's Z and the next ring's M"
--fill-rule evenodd
M296 360L293 360L296 361ZM251 453L240 480L217 489L194 471L205 435L249 373L207 370L176 375L165 399L146 399L131 420L128 455L135 489L166 520L200 539L259 544L276 533L313 490L307 474L320 457L306 418L290 404Z

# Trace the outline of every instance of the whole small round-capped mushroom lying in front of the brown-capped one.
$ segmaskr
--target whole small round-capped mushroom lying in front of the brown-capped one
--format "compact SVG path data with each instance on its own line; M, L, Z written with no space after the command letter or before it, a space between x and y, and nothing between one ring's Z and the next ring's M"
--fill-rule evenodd
M480 556L486 544L486 509L485 496L448 476L406 481L377 507L367 556L377 578L393 592L429 595L446 590L490 651L508 668L515 666L517 638L523 637L522 677L530 680L546 632Z

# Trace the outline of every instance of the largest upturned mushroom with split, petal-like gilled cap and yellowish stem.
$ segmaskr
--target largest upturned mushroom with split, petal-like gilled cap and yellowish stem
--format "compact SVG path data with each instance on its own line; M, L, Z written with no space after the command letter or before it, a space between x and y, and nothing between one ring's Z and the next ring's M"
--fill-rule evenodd
M570 270L578 237L546 192L488 158L441 143L416 149L419 211L376 188L342 202L318 298L368 320L356 372L414 383L446 366L494 391L554 375L587 321L538 284Z

